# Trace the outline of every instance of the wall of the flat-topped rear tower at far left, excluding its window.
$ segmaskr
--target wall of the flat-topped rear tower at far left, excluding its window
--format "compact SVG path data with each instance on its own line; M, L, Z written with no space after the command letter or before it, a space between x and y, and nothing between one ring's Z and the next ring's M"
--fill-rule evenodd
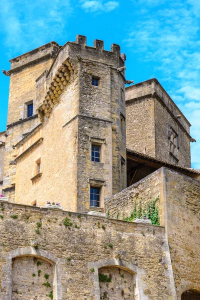
M15 145L25 134L31 130L38 122L35 111L36 82L35 80L49 69L53 58L49 52L54 45L44 45L26 53L25 56L13 58L11 62L11 75L9 84L9 101L7 114L7 130L4 155L3 189L7 189L15 184L15 165L9 164L14 160L15 153L12 145ZM29 64L29 65L28 65ZM27 118L24 114L24 105L28 101L33 101L33 116ZM7 196L11 199L11 194L7 191ZM12 197L13 198L13 197Z

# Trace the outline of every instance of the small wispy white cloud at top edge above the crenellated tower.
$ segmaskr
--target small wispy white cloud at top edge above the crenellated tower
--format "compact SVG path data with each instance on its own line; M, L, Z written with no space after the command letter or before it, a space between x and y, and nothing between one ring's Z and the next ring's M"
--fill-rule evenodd
M89 1L84 1L81 4L81 7L86 11L86 12L110 12L116 7L119 6L119 3L117 1L108 1L103 3L102 1L99 0L89 0Z

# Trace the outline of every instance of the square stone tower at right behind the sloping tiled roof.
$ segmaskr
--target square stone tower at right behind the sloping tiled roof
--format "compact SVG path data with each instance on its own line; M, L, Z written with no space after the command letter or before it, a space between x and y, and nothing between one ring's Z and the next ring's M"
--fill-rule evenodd
M126 87L127 148L190 167L190 123L153 78ZM176 135L170 149L170 130Z

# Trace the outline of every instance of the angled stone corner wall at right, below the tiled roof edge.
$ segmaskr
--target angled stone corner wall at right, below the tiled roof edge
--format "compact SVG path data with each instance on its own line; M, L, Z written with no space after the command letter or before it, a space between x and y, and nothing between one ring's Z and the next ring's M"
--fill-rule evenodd
M175 281L177 299L184 290L199 290L199 181L160 168L139 182L126 188L105 201L110 217L125 217L137 207L142 207L159 196L156 205L159 210L160 225L165 227L170 249L171 264Z

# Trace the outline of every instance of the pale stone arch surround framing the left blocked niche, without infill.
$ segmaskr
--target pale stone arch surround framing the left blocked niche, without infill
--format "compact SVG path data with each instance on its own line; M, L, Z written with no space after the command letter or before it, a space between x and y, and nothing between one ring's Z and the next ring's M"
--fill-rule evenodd
M60 261L55 255L42 250L34 249L33 247L17 248L6 252L6 263L3 265L2 270L6 272L5 280L3 280L3 286L7 287L6 294L3 295L2 300L12 300L12 260L17 257L33 256L38 257L52 265L53 269L53 299L62 300L61 291L61 272Z

